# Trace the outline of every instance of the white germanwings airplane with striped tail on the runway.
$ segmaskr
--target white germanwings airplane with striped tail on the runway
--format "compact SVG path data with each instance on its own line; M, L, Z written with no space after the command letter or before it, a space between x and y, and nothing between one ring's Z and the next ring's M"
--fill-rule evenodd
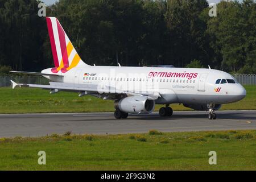
M20 72L48 78L49 85L16 84L42 88L50 93L76 92L79 97L90 95L114 101L114 117L126 119L129 114L150 114L155 105L161 117L171 117L171 104L183 104L195 110L215 111L222 104L245 98L246 90L229 73L215 69L174 67L90 66L81 60L59 20L47 17L47 27L55 67L41 73Z

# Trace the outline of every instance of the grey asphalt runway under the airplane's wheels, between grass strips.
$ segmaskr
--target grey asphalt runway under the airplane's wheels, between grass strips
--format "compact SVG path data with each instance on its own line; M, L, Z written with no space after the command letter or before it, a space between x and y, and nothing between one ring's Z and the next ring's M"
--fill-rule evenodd
M256 130L256 111L217 111L209 120L205 111L176 111L171 118L158 113L114 119L113 113L0 114L0 137L39 137L47 134L147 133L171 131Z

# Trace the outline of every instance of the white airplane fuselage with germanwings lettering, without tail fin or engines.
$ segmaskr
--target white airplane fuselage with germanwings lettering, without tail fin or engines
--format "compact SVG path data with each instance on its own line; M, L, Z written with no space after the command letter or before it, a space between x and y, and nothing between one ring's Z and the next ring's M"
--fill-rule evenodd
M45 69L42 73L52 72ZM233 76L214 69L76 67L61 75L64 76L61 80L50 79L75 85L97 85L105 88L105 93L158 92L161 97L156 99L156 104L226 104L246 96L246 90Z

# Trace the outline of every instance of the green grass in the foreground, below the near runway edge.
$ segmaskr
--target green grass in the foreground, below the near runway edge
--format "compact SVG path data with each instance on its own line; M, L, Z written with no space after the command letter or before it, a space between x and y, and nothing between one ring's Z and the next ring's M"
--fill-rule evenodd
M0 138L0 170L255 170L255 143L256 130Z

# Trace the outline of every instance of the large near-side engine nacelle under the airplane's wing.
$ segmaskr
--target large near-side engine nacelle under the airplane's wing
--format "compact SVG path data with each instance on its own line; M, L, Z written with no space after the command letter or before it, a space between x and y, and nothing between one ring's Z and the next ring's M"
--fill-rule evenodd
M115 101L114 106L125 113L149 114L155 109L155 101L147 96L132 96Z

